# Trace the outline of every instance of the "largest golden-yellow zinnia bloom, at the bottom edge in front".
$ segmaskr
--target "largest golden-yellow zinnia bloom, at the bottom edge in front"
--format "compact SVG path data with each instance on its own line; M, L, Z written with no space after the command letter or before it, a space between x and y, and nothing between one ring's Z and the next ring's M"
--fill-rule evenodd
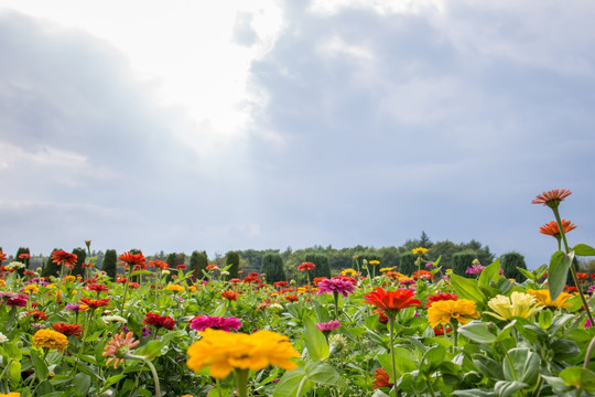
M251 335L206 329L203 337L188 347L192 371L210 366L210 376L223 379L231 369L262 369L277 365L295 369L291 357L300 357L286 336L272 331L258 331Z

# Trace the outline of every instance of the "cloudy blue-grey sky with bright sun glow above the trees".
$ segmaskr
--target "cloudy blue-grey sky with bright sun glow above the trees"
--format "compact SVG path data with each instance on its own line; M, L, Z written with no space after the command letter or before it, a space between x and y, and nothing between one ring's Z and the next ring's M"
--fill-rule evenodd
M595 244L589 0L0 0L0 247Z

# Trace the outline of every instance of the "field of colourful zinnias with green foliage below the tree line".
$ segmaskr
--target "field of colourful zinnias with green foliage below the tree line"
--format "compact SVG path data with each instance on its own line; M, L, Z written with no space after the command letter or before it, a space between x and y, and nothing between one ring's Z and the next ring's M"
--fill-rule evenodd
M77 278L61 250L60 275L41 278L0 251L0 396L595 395L594 288L573 265L595 249L569 245L569 195L533 201L553 212L542 233L558 249L523 282L498 260L455 275L424 247L412 276L370 260L311 279L304 262L305 285L138 253L116 279Z

